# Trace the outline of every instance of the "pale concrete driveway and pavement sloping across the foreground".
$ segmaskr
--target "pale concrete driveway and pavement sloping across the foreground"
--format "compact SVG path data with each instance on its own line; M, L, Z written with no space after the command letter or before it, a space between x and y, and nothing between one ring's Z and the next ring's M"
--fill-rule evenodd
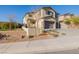
M54 39L0 44L0 53L49 53L79 48L79 30L58 30L66 33Z

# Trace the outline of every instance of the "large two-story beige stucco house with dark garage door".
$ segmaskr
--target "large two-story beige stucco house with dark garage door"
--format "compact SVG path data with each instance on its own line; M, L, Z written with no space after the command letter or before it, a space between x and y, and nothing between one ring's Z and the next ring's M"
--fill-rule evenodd
M26 13L23 24L27 35L39 35L44 31L59 28L58 13L51 7L43 7Z

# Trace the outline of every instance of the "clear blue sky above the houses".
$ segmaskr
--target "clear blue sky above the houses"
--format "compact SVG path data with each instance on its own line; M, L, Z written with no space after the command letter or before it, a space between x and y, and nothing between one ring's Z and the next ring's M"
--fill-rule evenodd
M8 17L14 15L14 21L22 23L25 13L49 6L60 15L65 13L79 15L79 5L0 5L0 21L9 21Z

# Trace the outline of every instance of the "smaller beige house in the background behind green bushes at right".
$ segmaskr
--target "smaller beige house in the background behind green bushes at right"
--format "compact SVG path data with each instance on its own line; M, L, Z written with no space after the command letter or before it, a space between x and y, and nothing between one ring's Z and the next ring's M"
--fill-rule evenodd
M75 16L75 15L74 15L74 14L70 14L70 13L66 13L66 14L60 15L60 16L58 17L59 22L60 22L60 24L61 24L61 29L67 29L67 28L68 28L68 25L66 25L66 24L64 23L64 20L65 20L65 19L68 19L68 18L72 18L73 16Z

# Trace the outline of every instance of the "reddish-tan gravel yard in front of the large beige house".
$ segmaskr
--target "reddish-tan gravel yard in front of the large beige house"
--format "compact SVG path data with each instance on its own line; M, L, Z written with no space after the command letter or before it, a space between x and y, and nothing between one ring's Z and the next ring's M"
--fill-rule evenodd
M10 43L28 40L53 39L59 36L57 32L43 33L39 36L28 38L26 32L22 29L0 31L0 43Z

